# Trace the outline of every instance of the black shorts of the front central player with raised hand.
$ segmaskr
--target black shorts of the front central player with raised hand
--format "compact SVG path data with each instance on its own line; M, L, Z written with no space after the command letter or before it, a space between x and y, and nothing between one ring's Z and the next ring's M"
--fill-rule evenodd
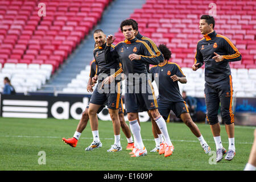
M139 113L158 108L154 88L150 80L137 86L126 86L125 108L127 113Z

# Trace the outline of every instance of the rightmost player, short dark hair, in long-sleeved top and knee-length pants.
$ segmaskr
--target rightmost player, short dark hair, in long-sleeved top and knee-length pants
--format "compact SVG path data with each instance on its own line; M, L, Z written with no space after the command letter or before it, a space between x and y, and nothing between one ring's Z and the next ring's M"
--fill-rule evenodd
M241 53L228 38L214 31L214 18L202 15L199 30L204 38L197 42L195 63L196 71L205 63L205 104L207 119L216 144L216 162L223 159L226 153L221 143L220 124L218 123L218 107L221 104L221 117L225 122L229 138L229 151L225 160L232 160L236 154L234 143L234 114L232 111L233 86L229 62L240 61Z

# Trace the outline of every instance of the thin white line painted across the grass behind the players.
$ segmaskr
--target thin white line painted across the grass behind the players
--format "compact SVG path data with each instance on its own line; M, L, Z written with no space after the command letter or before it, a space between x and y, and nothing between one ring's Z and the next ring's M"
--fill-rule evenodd
M5 135L5 136L0 136L0 137L16 137L16 138L63 138L63 137L43 137L43 136L10 136L10 135ZM93 138L87 138L87 137L81 137L80 139L93 139ZM114 140L114 138L101 138L101 140ZM121 140L125 140L122 139ZM143 139L146 141L155 141L154 139ZM172 140L172 142L199 142L199 140ZM214 143L214 142L208 142L208 143ZM222 142L222 143L229 143L229 142ZM252 142L236 142L237 144L253 144Z

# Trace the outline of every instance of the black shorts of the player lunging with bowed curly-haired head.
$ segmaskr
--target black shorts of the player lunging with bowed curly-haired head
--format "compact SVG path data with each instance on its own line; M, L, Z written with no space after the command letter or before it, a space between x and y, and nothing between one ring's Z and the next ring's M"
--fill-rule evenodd
M189 113L188 106L185 101L170 102L158 98L158 111L165 120L168 118L171 110L178 118L180 118L180 114L182 113Z

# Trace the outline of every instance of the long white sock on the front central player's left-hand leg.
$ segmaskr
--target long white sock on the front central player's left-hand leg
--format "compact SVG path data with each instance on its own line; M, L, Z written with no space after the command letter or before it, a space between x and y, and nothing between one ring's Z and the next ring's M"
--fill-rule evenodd
M138 148L142 149L144 147L144 144L141 138L141 126L139 126L137 119L135 119L134 121L129 121L129 125Z

